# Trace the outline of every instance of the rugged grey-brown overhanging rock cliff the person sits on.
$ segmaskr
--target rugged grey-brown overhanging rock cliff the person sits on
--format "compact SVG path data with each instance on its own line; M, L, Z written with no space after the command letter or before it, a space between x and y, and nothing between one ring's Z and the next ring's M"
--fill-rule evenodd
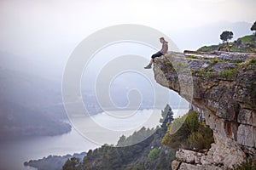
M174 169L224 169L255 159L256 54L171 52L155 59L154 77L187 99L213 130L212 148L200 156L178 151Z

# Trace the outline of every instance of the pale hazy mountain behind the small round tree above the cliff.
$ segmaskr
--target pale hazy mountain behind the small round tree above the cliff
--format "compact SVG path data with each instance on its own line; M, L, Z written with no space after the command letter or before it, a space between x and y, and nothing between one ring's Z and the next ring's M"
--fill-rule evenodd
M222 21L191 29L183 28L180 31L169 32L169 34L181 51L184 49L196 50L212 43L218 44L220 42L219 35L225 30L233 31L234 39L249 35L252 32L250 31L252 25L253 23L248 22Z

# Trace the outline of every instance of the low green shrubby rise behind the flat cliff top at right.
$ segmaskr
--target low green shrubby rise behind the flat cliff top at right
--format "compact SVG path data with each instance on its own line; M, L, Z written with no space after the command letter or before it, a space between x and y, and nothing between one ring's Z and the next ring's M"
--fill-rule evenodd
M212 52L219 50L219 48L226 47L227 44L218 44L211 46L204 46L199 48L199 52ZM256 53L256 36L249 35L245 37L240 37L234 42L229 43L231 52L242 52L242 53Z

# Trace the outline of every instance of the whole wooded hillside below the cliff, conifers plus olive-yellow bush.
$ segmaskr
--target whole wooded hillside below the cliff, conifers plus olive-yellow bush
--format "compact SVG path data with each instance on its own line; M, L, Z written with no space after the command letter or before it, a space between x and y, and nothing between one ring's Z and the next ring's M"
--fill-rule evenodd
M156 131L143 127L129 137L121 136L117 145L105 144L96 150L89 150L82 162L75 158L69 159L63 170L166 170L171 169L171 163L176 158L175 152L179 148L201 150L201 155L210 148L213 142L212 130L199 120L196 111L173 119L172 109L166 105L162 117ZM170 135L170 130L180 122L183 125L177 133ZM153 134L134 144L134 141L141 140L148 133ZM201 139L198 140L198 137Z

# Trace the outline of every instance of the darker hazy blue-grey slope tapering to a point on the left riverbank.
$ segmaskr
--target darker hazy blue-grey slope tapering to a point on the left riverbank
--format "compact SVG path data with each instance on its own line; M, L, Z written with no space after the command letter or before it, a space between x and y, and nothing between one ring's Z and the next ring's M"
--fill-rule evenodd
M0 142L30 136L55 136L71 131L71 125L43 111L0 100Z

